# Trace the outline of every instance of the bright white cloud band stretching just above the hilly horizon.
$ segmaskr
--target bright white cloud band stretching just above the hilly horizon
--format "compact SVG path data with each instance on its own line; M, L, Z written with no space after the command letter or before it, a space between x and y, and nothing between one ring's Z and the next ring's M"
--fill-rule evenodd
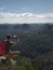
M53 13L34 14L34 13L0 13L1 23L53 23Z

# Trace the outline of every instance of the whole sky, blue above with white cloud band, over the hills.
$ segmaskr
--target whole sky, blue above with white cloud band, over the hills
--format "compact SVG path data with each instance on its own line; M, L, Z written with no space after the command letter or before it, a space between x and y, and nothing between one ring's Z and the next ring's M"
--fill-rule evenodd
M53 0L0 0L0 24L53 23Z

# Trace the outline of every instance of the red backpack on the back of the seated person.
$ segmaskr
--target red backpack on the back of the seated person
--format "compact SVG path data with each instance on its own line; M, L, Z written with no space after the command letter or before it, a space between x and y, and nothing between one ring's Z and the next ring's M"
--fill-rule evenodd
M5 55L9 48L9 41L1 41L0 42L0 55Z

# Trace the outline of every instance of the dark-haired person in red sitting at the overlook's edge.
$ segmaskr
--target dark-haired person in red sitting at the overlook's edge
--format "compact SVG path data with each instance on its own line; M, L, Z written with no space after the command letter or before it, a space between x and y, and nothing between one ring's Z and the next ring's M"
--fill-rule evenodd
M1 44L0 44L0 60L1 60L3 64L5 64L8 59L10 59L12 64L16 62L16 61L14 61L14 60L12 59L12 57L11 57L11 56L13 55L13 53L10 53L10 47L11 47L12 45L17 44L17 43L11 41L12 38L16 38L16 36L13 36L13 37L12 37L12 36L9 36L9 34L8 34L8 36L6 36L6 39L3 40L3 41L1 42ZM19 53L19 52L18 52L18 53Z

